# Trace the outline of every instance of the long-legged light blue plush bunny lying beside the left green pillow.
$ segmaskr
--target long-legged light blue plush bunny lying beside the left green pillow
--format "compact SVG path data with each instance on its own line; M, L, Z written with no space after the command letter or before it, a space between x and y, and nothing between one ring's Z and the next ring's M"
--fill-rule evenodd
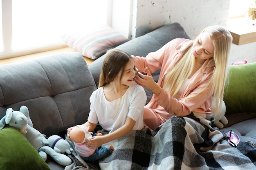
M8 108L5 116L0 120L0 130L4 128L5 125L9 125L20 130L20 132L27 138L29 143L38 151L39 155L45 161L47 159L47 155L50 155L54 161L60 165L67 166L72 163L72 160L69 157L61 152L56 152L52 147L47 146L49 143L45 136L33 128L32 121L29 117L29 110L26 106L21 106L19 111L13 111L12 108ZM58 147L63 144L65 152L67 152L69 144L67 141L65 142L62 141L62 143L59 143ZM67 153L70 154L70 152Z

